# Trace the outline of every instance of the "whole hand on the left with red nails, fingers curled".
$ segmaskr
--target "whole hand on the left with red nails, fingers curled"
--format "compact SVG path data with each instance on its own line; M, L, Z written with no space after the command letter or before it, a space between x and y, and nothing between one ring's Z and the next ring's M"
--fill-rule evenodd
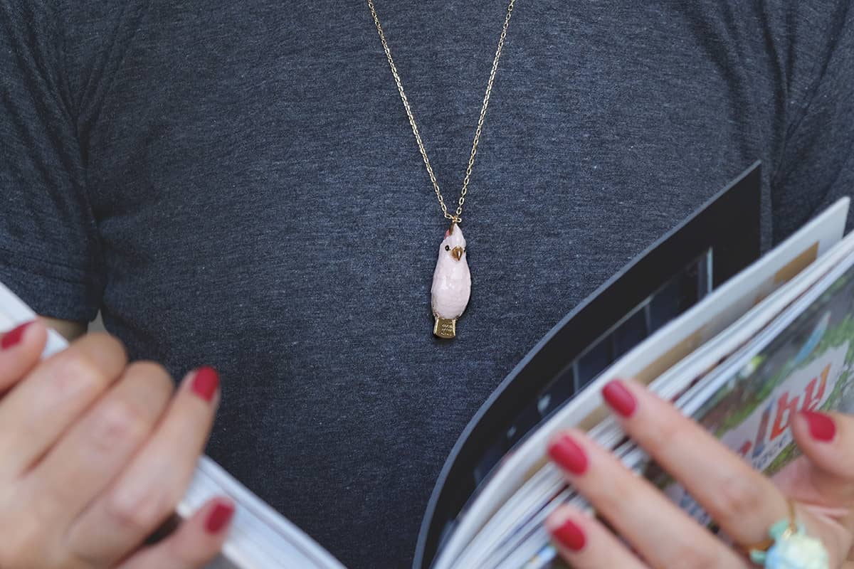
M41 322L0 336L0 567L190 569L225 541L234 505L214 499L144 542L190 484L219 400L196 369L173 394L160 365L127 363L107 334L39 362Z

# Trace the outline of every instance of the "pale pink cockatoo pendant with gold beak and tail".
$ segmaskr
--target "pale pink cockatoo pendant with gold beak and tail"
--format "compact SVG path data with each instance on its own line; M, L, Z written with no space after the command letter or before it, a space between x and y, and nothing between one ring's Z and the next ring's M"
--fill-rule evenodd
M465 311L471 296L471 273L465 260L465 238L459 225L451 224L439 246L439 259L430 289L436 325L433 334L439 338L457 335L457 318Z

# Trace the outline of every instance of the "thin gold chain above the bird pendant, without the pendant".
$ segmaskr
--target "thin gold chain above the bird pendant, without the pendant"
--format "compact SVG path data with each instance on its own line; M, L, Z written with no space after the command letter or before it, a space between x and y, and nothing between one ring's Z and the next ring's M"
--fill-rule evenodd
M409 125L412 126L412 134L415 135L415 142L418 142L418 150L421 151L421 158L424 159L424 165L427 167L427 173L430 175L430 182L433 183L433 189L436 190L436 199L439 200L439 206L442 207L442 213L444 214L445 218L450 219L455 224L460 224L463 221L463 204L465 203L465 194L468 192L469 189L471 169L475 165L475 156L477 155L477 142L480 141L481 131L483 131L483 120L486 118L486 109L489 106L489 95L492 93L492 84L495 80L495 72L498 71L498 61L501 57L501 49L504 48L504 39L507 37L507 26L510 25L510 17L513 14L513 4L516 3L516 0L510 0L510 3L507 5L507 15L504 18L504 27L501 28L501 35L498 39L498 48L495 49L495 58L492 61L492 70L489 72L489 81L486 84L486 94L483 96L483 105L481 106L480 119L477 119L477 130L475 131L475 139L474 142L471 143L471 155L469 156L469 164L465 168L463 188L459 191L459 202L457 206L457 211L454 213L447 212L445 199L442 197L442 191L439 189L439 183L436 182L436 175L433 173L433 166L430 165L430 159L427 158L427 150L424 148L424 142L421 142L421 135L418 133L418 125L415 124L415 117L412 115L412 108L409 106L407 94L403 90L401 76L397 73L397 67L395 67L395 60L391 57L391 50L389 49L389 44L385 41L383 26L380 26L379 17L377 16L377 10L374 9L373 0L367 0L367 2L368 8L371 9L371 15L373 16L374 25L377 26L377 33L379 34L379 39L383 43L385 56L389 60L391 74L395 77L395 84L397 84L397 90L401 93L401 101L403 101L403 107L407 110Z

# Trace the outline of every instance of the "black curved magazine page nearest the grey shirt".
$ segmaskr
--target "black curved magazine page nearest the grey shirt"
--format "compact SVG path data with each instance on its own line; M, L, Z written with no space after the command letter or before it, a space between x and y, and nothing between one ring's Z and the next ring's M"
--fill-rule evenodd
M617 357L762 256L761 179L757 161L628 259L510 369L443 462L413 567L434 562L466 504L521 439Z

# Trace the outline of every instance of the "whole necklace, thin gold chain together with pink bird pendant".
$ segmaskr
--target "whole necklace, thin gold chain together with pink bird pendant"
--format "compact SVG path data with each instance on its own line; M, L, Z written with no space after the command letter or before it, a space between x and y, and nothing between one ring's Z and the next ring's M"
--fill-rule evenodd
M412 108L409 106L407 94L403 90L401 76L397 73L395 60L391 56L391 49L389 49L389 44L385 41L385 34L383 33L383 26L380 26L379 23L377 9L374 8L373 0L367 0L367 3L368 8L371 9L374 25L377 26L377 34L379 34L379 40L383 44L385 56L389 60L391 74L395 78L397 90L400 91L403 107L407 111L409 125L412 126L412 134L415 135L415 142L418 143L418 150L421 151L421 158L424 159L424 166L427 168L427 174L430 175L430 182L433 183L433 189L436 191L436 199L439 200L439 206L442 207L444 217L451 220L451 227L445 232L445 238L439 247L439 258L436 261L436 271L433 273L433 287L430 290L430 297L433 316L436 319L433 334L436 334L440 338L453 338L456 336L457 319L465 311L465 306L468 305L471 296L471 273L469 272L468 262L465 258L465 239L463 238L462 229L459 229L458 226L463 221L463 204L465 203L465 194L469 189L471 169L475 164L477 142L480 141L481 131L483 131L483 120L486 118L486 109L489 106L489 96L492 93L495 72L498 71L498 61L501 57L501 50L504 48L504 40L507 37L507 26L510 25L510 17L513 15L513 4L516 3L516 0L510 0L510 3L507 5L504 26L501 28L498 48L495 49L492 70L489 72L489 80L486 85L486 94L483 96L480 119L477 120L475 139L471 143L471 154L469 155L469 164L465 168L463 188L459 191L457 211L453 213L447 212L445 199L442 197L442 190L439 189L439 183L436 182L433 166L430 165L430 159L427 158L427 150L424 148L424 142L421 142L418 125L415 124ZM454 230L455 227L456 230Z

